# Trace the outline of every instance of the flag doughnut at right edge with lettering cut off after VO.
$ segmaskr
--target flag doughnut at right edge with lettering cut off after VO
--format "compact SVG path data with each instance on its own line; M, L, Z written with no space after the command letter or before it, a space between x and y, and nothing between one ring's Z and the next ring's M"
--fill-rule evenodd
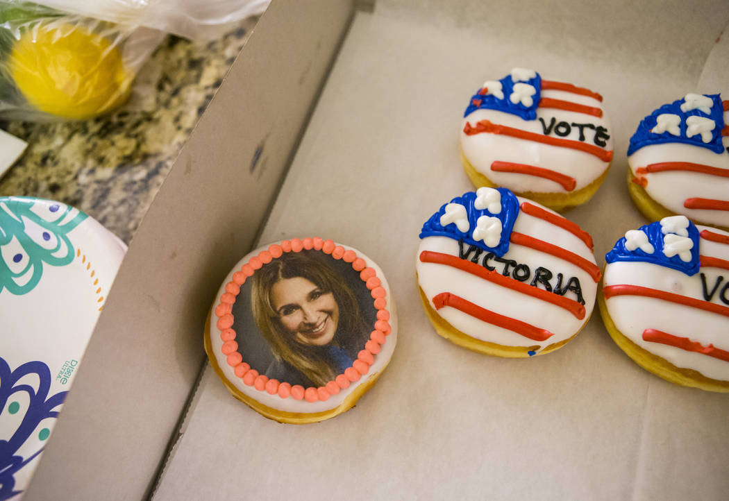
M617 346L667 381L729 392L729 233L669 216L605 259L599 308Z

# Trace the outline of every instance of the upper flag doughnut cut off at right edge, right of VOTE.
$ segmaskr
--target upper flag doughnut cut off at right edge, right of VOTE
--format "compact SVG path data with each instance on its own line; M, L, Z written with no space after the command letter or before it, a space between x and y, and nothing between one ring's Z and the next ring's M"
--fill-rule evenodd
M628 190L649 221L682 214L729 229L729 101L689 93L645 117L628 147Z

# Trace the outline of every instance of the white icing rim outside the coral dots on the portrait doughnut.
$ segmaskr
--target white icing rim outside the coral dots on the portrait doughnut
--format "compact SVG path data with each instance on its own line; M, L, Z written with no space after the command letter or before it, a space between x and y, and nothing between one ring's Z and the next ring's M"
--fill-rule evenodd
M262 403L265 406L268 406L272 409L277 409L279 411L298 412L303 414L310 414L314 412L328 411L330 409L334 409L335 407L343 403L344 399L348 395L351 395L351 392L353 392L357 387L362 384L366 384L370 379L377 376L383 370L383 368L385 368L392 356L392 352L395 349L395 344L397 344L397 311L395 309L395 304L392 299L390 287L387 283L387 280L385 280L382 269L380 269L380 267L378 267L378 265L374 261L372 261L372 259L364 256L364 254L359 252L359 250L352 249L347 245L342 245L345 250L354 250L357 253L358 257L364 259L368 267L372 267L373 269L375 269L377 277L381 280L382 287L385 288L386 291L385 297L387 300L387 309L390 312L390 320L388 320L388 323L390 324L392 331L389 336L387 336L385 344L382 345L382 350L377 355L375 355L375 363L370 366L370 371L362 376L359 381L351 383L349 387L341 390L337 395L332 395L326 401L307 402L304 399L297 401L292 397L281 398L278 395L269 395L268 392L266 392L265 390L260 391L256 390L256 388L253 386L247 386L245 383L243 383L243 379L235 376L234 368L227 364L226 356L222 354L221 348L223 342L222 339L220 339L220 330L215 325L217 322L217 317L214 313L215 307L217 306L217 304L220 303L220 297L223 295L223 293L225 293L225 284L233 280L233 273L238 271L238 269L241 269L243 264L248 262L253 256L257 256L261 252L261 250L266 250L268 249L268 247L269 245L266 245L265 247L258 248L256 250L253 250L251 253L246 254L246 256L244 256L241 261L238 261L238 264L233 267L233 270L231 270L227 277L225 277L225 280L223 280L223 283L218 290L217 296L215 296L215 301L211 309L211 321L209 331L211 350L214 353L218 366L222 373L225 375L227 381L230 382L230 384L233 384L236 390L242 392L244 395L248 395L249 397L254 398L256 401ZM243 362L245 361L245 356L243 356Z

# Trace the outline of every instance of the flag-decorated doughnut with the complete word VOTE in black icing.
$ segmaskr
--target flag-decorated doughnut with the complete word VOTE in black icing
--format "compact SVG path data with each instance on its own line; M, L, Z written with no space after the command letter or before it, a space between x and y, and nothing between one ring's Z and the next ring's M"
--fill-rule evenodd
M612 160L597 92L514 68L484 82L461 125L461 161L474 186L504 186L553 210L590 200Z

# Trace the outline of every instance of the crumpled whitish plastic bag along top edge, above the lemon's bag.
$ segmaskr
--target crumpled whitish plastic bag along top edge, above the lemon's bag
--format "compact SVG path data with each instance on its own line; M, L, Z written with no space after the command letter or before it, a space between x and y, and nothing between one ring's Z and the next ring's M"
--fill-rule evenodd
M270 0L39 0L63 12L112 23L146 26L205 41L234 23L261 14Z

